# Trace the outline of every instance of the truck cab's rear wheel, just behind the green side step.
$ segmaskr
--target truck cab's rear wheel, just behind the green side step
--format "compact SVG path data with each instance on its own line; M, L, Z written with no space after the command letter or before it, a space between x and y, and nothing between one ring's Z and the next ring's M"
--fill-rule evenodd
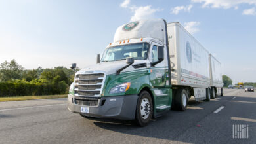
M185 111L188 106L188 93L184 89L177 90L175 94L175 109Z

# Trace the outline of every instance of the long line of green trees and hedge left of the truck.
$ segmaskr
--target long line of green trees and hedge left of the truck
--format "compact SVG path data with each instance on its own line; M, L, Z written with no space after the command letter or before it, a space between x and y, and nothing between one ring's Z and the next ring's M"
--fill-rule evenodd
M66 67L24 69L16 60L0 65L0 96L67 94L75 72Z

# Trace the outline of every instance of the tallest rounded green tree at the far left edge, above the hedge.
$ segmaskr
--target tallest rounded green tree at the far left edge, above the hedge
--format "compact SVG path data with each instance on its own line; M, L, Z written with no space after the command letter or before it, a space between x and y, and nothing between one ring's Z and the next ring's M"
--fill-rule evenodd
M0 65L0 81L20 79L24 68L13 59L11 62L3 62Z

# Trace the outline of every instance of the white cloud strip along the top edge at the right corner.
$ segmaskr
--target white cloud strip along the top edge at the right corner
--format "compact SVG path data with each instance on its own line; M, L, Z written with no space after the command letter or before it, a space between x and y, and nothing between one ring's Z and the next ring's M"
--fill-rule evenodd
M191 0L194 3L203 3L202 7L212 7L212 8L223 8L229 9L234 7L236 9L237 5L249 4L256 5L256 0Z

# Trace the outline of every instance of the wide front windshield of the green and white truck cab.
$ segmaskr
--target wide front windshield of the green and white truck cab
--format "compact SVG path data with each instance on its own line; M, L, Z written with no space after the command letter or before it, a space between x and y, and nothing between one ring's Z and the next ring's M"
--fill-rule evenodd
M146 60L148 58L148 43L135 43L107 48L102 56L101 62L125 60L134 58L135 60Z

